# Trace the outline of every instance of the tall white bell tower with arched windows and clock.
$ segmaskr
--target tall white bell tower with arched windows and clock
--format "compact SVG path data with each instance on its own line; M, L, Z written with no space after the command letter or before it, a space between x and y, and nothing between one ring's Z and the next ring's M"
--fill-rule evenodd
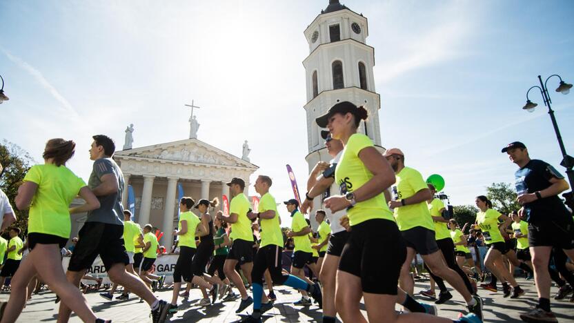
M367 19L338 0L330 0L304 32L309 43L309 56L303 61L307 88L307 141L305 157L309 171L317 161L328 161L315 118L339 101L350 101L368 110L368 119L358 129L381 147L379 128L380 96L375 92L373 66L375 48L368 46Z

